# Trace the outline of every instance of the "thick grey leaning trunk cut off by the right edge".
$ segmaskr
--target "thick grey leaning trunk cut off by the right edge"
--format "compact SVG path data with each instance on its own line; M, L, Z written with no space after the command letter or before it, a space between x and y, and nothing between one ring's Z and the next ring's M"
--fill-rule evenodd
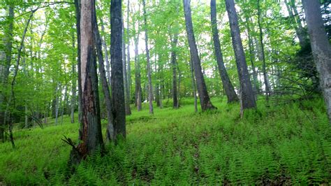
M302 0L316 69L331 122L331 46L324 29L320 2Z

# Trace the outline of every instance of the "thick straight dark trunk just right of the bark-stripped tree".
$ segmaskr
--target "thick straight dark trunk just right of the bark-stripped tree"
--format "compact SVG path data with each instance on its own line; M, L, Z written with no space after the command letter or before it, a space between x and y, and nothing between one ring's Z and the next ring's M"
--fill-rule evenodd
M110 3L110 64L112 66L112 138L126 137L124 77L122 63L122 0ZM110 132L110 131L108 131Z

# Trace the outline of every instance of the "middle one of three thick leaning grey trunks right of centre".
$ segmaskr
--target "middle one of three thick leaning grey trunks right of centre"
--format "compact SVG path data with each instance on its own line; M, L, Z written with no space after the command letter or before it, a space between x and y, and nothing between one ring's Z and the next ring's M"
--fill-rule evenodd
M219 43L219 29L217 29L216 20L216 0L210 1L210 17L212 20L212 38L214 41L214 52L216 55L217 66L219 68L219 75L221 76L223 88L228 98L228 103L236 102L239 101L239 99L230 81L228 72L226 71L226 66L224 66L221 45Z

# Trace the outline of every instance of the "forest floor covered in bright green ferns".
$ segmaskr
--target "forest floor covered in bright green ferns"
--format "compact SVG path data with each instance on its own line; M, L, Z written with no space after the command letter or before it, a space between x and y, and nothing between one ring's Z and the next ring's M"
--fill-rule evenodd
M164 101L149 115L132 108L126 141L108 144L67 170L79 124L54 120L44 129L15 129L16 148L0 143L0 185L187 185L331 183L331 127L323 99L277 102L240 119L239 104L212 99L218 110L194 113L193 100L178 110ZM61 120L60 120L61 121ZM76 119L77 121L77 119ZM103 135L106 121L103 120Z

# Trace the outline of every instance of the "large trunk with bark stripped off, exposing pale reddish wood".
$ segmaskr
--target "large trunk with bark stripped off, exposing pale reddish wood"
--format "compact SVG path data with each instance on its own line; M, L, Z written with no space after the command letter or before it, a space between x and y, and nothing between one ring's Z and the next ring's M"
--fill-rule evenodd
M82 74L79 83L82 86L82 134L80 143L71 151L73 163L80 162L96 148L103 148L96 73L94 0L81 0L80 3L80 69Z

